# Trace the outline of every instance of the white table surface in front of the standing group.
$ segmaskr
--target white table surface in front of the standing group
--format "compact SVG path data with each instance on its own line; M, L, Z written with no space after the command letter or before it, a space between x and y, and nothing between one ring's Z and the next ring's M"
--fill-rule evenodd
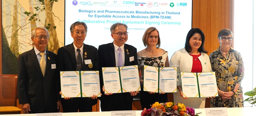
M255 116L255 107L240 107L240 108L227 108L228 116ZM136 111L136 116L140 116L142 111ZM206 116L204 108L195 109L199 116ZM9 114L1 116L36 116L36 114ZM62 116L111 116L111 112L70 112L62 113Z

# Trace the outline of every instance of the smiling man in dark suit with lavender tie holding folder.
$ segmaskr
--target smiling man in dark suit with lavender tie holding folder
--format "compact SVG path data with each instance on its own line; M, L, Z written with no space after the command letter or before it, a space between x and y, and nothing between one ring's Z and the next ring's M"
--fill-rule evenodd
M113 24L110 27L111 37L114 42L99 46L100 86L102 96L100 98L101 111L132 110L132 96L138 91L130 93L104 94L102 67L121 67L137 65L137 49L124 44L128 40L127 25Z

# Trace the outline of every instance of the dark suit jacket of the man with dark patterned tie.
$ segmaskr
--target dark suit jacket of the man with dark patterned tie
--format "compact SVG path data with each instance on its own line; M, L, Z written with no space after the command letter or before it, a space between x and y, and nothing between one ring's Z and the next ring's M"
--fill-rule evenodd
M85 52L87 55L85 55ZM83 71L92 71L92 70L99 70L99 57L98 57L98 50L97 48L84 44L83 47ZM86 57L85 57L86 56ZM84 60L92 61L92 68L88 67L88 64L84 63ZM58 67L60 71L76 71L76 54L75 48L73 43L60 47L58 49ZM60 72L59 72L60 73ZM62 100L62 105L72 105L76 98ZM97 104L97 99L85 98L88 105L95 105Z

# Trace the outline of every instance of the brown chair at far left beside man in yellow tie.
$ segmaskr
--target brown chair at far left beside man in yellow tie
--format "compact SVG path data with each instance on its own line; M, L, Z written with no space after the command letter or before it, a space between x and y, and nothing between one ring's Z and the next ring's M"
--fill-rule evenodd
M20 114L17 106L17 76L0 75L0 114Z

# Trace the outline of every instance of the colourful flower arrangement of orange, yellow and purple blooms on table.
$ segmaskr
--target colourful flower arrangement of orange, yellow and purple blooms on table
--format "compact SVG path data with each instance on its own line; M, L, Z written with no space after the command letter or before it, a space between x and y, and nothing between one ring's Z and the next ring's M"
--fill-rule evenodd
M141 116L198 116L195 109L175 102L158 103L151 105L150 109L144 108Z

